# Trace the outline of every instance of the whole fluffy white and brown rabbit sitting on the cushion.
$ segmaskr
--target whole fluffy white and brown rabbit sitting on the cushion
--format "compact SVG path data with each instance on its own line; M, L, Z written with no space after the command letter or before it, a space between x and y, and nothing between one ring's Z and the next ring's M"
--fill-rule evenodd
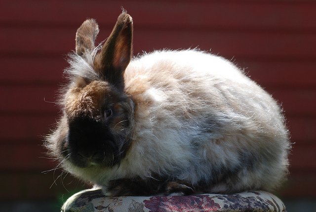
M235 64L198 49L133 57L126 11L95 46L98 32L94 19L77 31L46 137L63 169L109 197L273 192L286 178L283 111Z

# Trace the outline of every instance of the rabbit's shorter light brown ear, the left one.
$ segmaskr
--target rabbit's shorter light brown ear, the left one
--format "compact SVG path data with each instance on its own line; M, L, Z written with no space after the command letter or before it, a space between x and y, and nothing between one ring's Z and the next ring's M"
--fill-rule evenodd
M76 33L76 53L82 56L84 52L92 51L95 38L99 33L98 24L93 19L84 21Z

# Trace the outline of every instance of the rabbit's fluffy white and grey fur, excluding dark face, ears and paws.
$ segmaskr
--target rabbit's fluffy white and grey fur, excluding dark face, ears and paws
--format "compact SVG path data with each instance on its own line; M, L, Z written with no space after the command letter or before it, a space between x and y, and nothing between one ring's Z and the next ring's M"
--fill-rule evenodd
M90 76L95 53L74 55L68 72ZM155 51L134 58L124 80L135 103L126 156L104 169L65 160L66 170L99 185L152 173L195 185L231 173L209 192L272 190L283 180L290 146L280 108L230 61L196 49Z

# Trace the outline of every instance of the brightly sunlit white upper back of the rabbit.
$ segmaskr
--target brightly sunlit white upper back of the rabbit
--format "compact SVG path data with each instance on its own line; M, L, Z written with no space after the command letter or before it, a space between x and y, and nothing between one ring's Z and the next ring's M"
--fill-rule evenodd
M145 101L149 110L157 106L162 114L168 111L186 120L221 114L235 123L249 119L254 122L250 125L284 129L272 96L219 56L197 50L156 51L132 60L124 78L135 103Z

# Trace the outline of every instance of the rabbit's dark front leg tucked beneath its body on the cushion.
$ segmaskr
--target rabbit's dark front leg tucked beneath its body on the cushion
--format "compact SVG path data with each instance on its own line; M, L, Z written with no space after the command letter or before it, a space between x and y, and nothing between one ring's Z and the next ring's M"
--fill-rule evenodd
M182 182L142 179L142 178L123 178L109 181L103 189L106 196L148 196L148 195L189 195L194 190Z

